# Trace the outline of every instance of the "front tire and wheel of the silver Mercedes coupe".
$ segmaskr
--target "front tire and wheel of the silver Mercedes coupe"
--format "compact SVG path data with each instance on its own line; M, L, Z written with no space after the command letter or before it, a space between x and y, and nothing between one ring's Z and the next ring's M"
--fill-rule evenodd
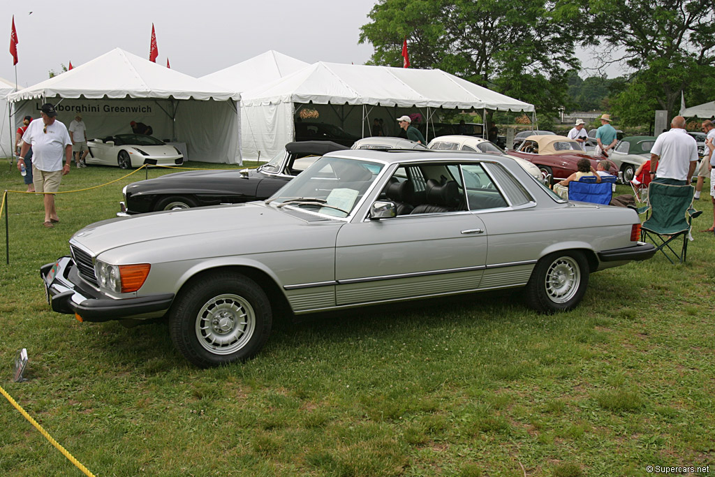
M169 313L169 334L187 360L209 368L247 360L263 348L272 311L256 282L215 272L186 286Z

